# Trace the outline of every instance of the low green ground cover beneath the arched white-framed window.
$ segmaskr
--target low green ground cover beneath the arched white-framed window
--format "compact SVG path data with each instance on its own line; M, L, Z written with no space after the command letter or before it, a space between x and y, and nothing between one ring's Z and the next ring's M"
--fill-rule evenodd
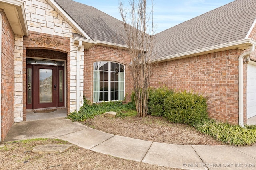
M86 99L84 101L84 106L80 107L79 111L70 113L67 116L68 119L72 119L72 121L84 121L108 111L115 111L117 114L124 116L122 112L132 109L131 104L122 104L122 101L101 102L98 104L90 104Z

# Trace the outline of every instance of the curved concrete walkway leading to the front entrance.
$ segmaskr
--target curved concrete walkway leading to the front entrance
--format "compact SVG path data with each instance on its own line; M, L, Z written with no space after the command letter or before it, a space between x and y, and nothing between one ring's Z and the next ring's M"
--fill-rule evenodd
M256 169L256 145L196 146L143 141L104 133L64 117L14 123L4 142L33 138L58 138L103 154L172 168Z

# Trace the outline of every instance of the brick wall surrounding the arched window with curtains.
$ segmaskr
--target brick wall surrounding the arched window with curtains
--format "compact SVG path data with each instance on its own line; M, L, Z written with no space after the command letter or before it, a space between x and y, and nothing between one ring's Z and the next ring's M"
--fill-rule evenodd
M123 57L128 61L129 57L123 50L96 45L90 50L84 51L84 96L93 101L93 63L97 61L113 61L125 65ZM125 66L125 94L126 100L130 101L132 91L132 78L128 67Z

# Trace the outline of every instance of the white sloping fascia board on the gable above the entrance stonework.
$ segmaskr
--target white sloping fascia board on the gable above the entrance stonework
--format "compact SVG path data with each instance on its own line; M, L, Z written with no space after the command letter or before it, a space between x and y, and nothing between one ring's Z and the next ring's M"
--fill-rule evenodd
M48 2L48 4L52 4L52 6L55 6L60 11L60 13L62 13L67 18L67 20L70 21L74 27L76 27L84 35L84 37L92 40L92 38L68 15L66 11L60 7L59 4L57 4L54 0L46 0L46 2Z

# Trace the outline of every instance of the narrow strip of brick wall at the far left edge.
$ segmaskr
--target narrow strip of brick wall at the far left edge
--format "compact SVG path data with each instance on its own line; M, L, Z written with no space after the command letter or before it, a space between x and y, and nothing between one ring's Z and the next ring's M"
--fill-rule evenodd
M14 33L2 10L2 135L6 137L14 123Z

